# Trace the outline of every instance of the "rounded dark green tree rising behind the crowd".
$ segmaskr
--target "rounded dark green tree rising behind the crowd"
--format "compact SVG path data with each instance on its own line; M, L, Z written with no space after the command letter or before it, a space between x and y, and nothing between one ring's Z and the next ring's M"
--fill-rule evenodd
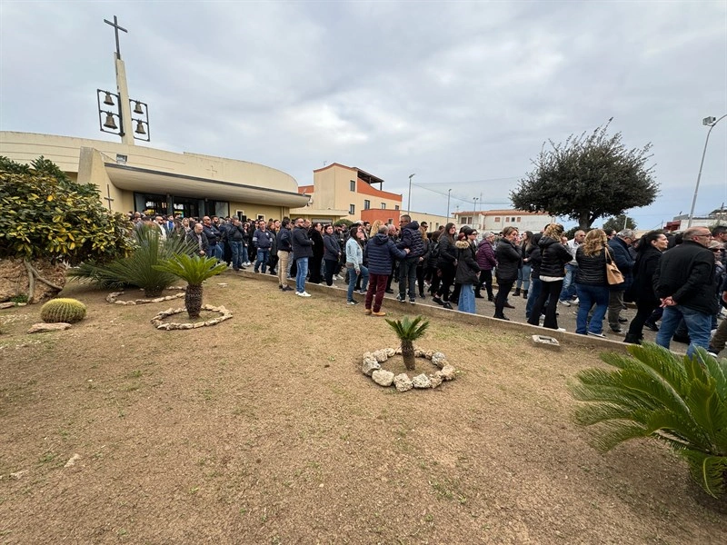
M533 171L510 193L513 206L567 217L588 229L597 218L653 203L659 184L647 164L652 144L627 149L621 133L609 136L610 123L591 134L571 134L563 144L543 144Z

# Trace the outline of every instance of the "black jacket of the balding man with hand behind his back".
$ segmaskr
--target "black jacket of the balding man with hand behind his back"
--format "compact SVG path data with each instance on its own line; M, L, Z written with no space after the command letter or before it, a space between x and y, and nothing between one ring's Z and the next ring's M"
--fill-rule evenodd
M702 244L684 241L664 252L653 275L653 291L662 299L697 312L717 312L714 255Z

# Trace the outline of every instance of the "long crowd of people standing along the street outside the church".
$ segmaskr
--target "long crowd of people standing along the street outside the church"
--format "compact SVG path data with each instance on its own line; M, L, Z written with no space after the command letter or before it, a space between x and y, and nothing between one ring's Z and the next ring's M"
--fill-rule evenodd
M677 234L655 230L640 238L631 229L579 230L569 240L559 223L545 225L542 233L520 233L511 226L480 238L473 228L457 229L454 223L430 233L426 222L406 214L398 226L376 221L348 227L304 218L196 221L138 213L132 220L137 227L156 226L163 237L184 237L200 255L234 271L252 266L254 272L274 274L280 290L300 297L311 296L306 282L344 282L346 303L356 305L354 292L364 294L364 312L375 316L385 315L384 294L394 293L394 282L398 302L429 296L445 309L456 305L474 313L475 300L486 298L493 302L493 317L507 321L505 310L515 308L511 296L523 297L525 321L544 328L564 331L559 311L576 307L575 332L583 335L604 338L606 322L606 332L623 335L624 342L642 342L643 329L649 328L664 347L672 339L688 343L688 354L697 346L717 354L727 344L727 321L718 327L727 306L727 226ZM609 281L610 263L622 282ZM294 290L288 279L295 279ZM631 321L623 315L626 302L637 309Z

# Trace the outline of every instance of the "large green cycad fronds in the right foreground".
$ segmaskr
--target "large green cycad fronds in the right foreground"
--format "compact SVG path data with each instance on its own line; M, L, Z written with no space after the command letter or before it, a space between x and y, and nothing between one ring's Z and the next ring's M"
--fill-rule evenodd
M652 342L629 346L631 356L603 353L615 371L587 369L570 386L587 401L575 417L594 426L602 451L637 437L665 442L688 463L710 495L727 491L727 360L700 348L680 357Z

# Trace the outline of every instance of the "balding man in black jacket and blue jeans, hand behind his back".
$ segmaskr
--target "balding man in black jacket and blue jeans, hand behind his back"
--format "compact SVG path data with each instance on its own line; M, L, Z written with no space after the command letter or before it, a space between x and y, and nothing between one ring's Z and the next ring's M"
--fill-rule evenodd
M669 348L672 335L684 319L691 343L687 356L698 346L709 348L712 315L717 312L714 297L714 256L707 249L712 234L706 227L692 227L683 242L665 252L653 275L653 291L662 302L662 327L656 343Z

